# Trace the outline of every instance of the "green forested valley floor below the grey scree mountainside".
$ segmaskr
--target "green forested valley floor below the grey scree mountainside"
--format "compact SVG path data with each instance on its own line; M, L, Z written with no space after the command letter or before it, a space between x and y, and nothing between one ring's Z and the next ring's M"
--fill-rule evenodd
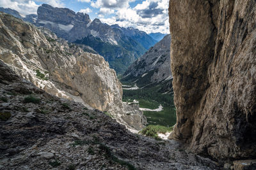
M124 87L123 90L123 101L133 102L138 101L140 108L148 108L155 110L163 106L162 111L143 111L143 114L147 117L148 125L164 125L171 127L176 123L175 106L173 104L173 91L162 92L163 88L166 87L166 82L159 83L158 85L150 85L143 89L127 90L126 86L133 87L135 83L129 83L128 81L120 80ZM170 85L171 82L168 82Z

